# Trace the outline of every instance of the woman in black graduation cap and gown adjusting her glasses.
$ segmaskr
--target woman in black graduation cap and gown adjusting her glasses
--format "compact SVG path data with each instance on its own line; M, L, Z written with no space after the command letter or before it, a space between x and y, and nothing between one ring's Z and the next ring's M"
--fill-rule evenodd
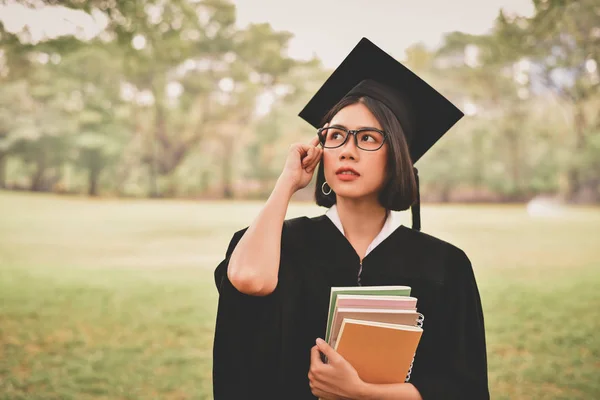
M321 126L318 135L290 148L264 208L234 234L215 270L215 398L489 398L471 264L419 232L415 208L412 165L462 113L363 39L301 116ZM315 197L329 210L284 220L317 167ZM411 205L413 229L390 212ZM356 285L412 288L426 319L409 382L363 382L321 340L331 287Z

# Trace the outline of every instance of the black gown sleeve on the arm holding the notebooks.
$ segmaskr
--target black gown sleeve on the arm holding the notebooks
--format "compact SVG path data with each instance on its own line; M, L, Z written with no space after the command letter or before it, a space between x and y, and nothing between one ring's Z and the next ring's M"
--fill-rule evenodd
M428 326L425 315L423 325L424 330L436 330L435 349L423 366L427 372L415 374L410 382L424 400L489 399L483 311L473 268L457 248L447 260L439 314L444 317Z

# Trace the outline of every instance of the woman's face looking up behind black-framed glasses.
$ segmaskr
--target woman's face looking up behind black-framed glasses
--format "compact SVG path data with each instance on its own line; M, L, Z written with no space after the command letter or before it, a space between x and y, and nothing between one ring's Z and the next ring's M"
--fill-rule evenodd
M341 109L329 125L341 125L346 129L371 127L382 129L381 124L362 103ZM324 149L323 167L325 180L338 198L377 199L385 185L388 143L377 151L365 151L356 147L351 135L346 143L334 149ZM358 175L341 173L340 168L351 168Z

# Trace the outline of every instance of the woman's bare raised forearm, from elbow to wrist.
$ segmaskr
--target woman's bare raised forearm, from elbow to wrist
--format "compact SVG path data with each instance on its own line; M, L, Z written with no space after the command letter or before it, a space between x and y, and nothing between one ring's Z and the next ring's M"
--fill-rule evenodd
M281 231L293 187L280 179L256 219L231 255L227 275L237 290L265 296L275 290L281 252Z

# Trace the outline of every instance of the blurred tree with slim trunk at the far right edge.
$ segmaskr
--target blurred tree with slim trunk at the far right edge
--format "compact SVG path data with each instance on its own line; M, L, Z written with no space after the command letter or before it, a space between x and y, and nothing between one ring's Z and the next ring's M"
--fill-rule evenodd
M532 17L507 16L498 19L498 36L507 47L534 64L544 88L551 90L571 108L572 158L567 168L567 197L582 195L600 200L600 170L584 162L594 152L589 140L594 131L600 89L600 9L596 0L534 0ZM600 154L595 154L596 157Z

